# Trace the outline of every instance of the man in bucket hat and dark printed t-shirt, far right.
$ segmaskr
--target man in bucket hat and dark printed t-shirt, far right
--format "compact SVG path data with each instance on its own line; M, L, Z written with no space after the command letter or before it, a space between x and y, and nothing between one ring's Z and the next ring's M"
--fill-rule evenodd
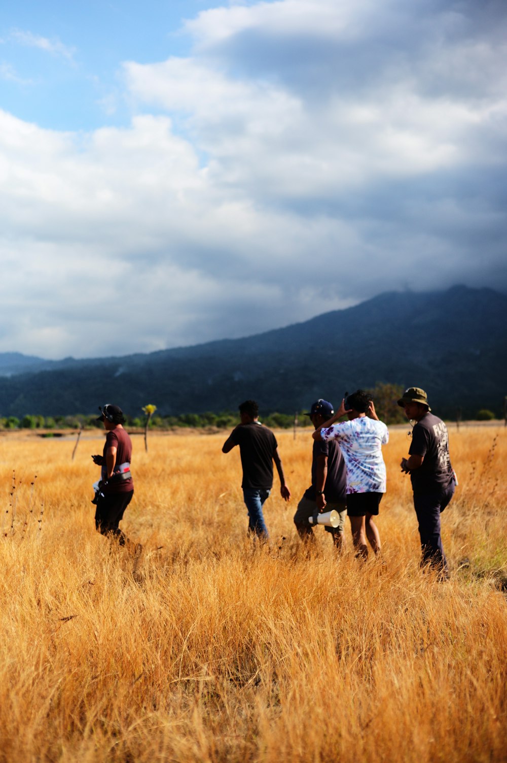
M410 475L414 508L421 537L421 565L430 564L448 577L441 539L440 515L454 495L455 478L449 457L449 436L444 422L431 413L428 396L419 387L403 393L398 405L416 421L409 458L401 460L402 472Z

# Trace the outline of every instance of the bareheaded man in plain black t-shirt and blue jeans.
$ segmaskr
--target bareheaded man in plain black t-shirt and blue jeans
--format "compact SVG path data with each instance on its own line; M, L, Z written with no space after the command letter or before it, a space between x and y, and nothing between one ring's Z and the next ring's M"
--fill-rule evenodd
M284 470L278 454L274 434L258 420L258 405L247 400L239 406L241 423L223 443L222 452L228 453L239 445L243 468L243 498L249 513L249 533L267 539L262 507L273 487L273 462L280 477L280 492L284 501L290 498L290 490L284 478Z

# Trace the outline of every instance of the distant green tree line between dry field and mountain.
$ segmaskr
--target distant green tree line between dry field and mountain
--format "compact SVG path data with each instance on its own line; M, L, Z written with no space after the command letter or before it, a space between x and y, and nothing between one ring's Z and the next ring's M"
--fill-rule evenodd
M374 397L375 409L380 420L388 424L404 423L406 421L403 409L398 406L397 401L403 394L403 387L393 384L378 383L371 390ZM313 401L310 401L310 403ZM340 401L333 401L338 405ZM309 403L309 404L310 404ZM305 416L305 411L297 412L297 419L300 426L310 423ZM146 424L146 416L129 416L126 427L143 428ZM260 420L267 427L274 429L290 429L294 427L294 413L280 414L277 412L260 415ZM492 420L496 414L492 410L481 409L477 411L476 420ZM154 430L171 430L176 427L188 429L223 429L228 430L236 426L239 420L239 414L233 410L223 410L221 413L209 411L204 414L180 414L178 416L164 416L154 414L149 418L149 428ZM22 419L14 416L0 417L0 430L58 430L58 429L95 429L102 428L102 424L97 421L96 414L75 414L73 416L38 416L36 414L27 414Z

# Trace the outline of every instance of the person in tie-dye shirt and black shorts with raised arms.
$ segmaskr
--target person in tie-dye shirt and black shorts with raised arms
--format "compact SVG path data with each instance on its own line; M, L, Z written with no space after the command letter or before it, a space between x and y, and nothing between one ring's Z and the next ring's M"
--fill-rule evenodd
M347 414L348 421L337 423ZM371 394L358 389L342 400L342 405L313 439L337 439L347 466L347 513L358 556L367 557L366 540L375 554L380 552L380 536L373 517L386 492L386 465L382 446L389 440L386 425L379 420Z

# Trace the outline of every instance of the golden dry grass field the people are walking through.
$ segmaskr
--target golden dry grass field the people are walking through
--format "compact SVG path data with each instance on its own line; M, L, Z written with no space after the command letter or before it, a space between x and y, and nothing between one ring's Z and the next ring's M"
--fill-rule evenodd
M341 559L322 528L297 539L310 430L277 433L293 497L275 476L264 547L226 433L134 437L139 559L95 533L103 437L74 461L71 439L0 438L0 761L505 761L507 430L451 431L446 583L419 570L407 430L384 449L385 565L349 526Z

